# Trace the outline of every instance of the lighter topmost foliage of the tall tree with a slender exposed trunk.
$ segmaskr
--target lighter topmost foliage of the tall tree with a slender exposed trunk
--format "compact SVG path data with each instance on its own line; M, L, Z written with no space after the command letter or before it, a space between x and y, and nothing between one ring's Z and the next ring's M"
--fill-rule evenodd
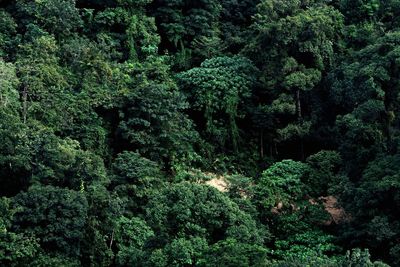
M338 11L313 1L264 1L255 17L256 40L271 46L271 56L282 55L281 60L292 56L300 64L320 70L329 64L333 41L343 27ZM267 43L271 41L274 43Z

